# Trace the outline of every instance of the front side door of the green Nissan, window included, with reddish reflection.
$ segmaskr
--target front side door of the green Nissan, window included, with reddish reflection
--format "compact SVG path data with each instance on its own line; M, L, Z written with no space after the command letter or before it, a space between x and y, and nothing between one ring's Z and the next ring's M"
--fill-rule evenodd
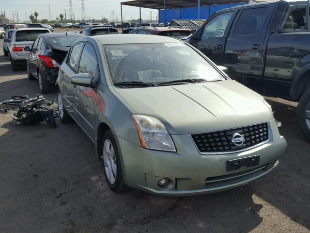
M98 59L93 45L85 43L79 65L78 73L89 73L92 78L92 83L98 84L100 79ZM94 107L97 95L97 89L84 86L75 86L75 99L77 100L76 112L80 126L86 133L93 138L94 132Z

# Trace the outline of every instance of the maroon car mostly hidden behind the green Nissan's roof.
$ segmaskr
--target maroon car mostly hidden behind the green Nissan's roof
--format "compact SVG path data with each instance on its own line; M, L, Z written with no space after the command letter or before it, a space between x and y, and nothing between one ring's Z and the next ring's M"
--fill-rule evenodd
M142 26L137 28L135 31L130 34L147 34L147 35L162 35L169 36L178 39L182 39L191 35L191 31L188 29L175 28L175 27L148 27Z

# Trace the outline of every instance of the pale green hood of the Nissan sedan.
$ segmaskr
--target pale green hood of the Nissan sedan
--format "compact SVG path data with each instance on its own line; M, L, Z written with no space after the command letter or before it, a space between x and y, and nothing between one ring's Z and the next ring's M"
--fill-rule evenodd
M171 134L214 132L273 119L262 96L233 80L115 90L132 114L155 116Z

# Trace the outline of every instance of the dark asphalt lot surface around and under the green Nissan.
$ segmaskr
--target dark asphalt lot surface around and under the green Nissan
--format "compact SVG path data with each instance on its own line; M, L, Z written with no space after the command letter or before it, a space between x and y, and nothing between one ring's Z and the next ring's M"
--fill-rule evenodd
M38 82L29 81L25 70L11 71L0 51L0 100L39 93ZM77 124L57 119L55 130L0 115L0 232L310 232L310 143L298 129L296 103L268 102L288 142L279 166L241 188L186 198L135 189L114 194Z

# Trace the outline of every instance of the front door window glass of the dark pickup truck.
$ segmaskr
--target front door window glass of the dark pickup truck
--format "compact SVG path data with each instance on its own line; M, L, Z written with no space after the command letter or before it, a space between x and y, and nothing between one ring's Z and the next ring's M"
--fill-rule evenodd
M204 26L201 40L210 37L222 37L225 34L227 25L233 16L233 12L219 15Z

